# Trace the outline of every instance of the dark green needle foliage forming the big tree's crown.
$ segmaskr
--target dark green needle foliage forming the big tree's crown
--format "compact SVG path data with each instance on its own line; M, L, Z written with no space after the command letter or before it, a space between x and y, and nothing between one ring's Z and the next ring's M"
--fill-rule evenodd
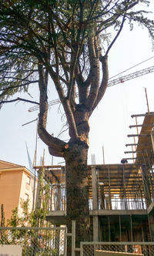
M54 82L59 76L64 95L68 95L72 80L78 80L74 78L77 62L81 79L88 77L89 36L99 36L104 46L109 43L109 29L119 29L123 17L131 26L132 22L145 25L153 37L153 21L144 18L144 10L135 11L140 3L148 5L149 1L1 1L1 99L27 92L31 83L37 83L39 63ZM102 49L102 54L108 52Z

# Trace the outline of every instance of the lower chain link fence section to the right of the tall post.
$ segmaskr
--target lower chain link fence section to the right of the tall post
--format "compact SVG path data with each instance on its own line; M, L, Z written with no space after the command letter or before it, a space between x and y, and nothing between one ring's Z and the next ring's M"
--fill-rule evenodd
M107 255L126 255L126 256L154 256L153 242L82 242L81 256L100 256Z

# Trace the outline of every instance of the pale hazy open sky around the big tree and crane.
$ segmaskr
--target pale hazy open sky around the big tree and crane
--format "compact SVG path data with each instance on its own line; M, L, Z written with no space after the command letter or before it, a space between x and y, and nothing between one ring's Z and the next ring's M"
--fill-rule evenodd
M115 76L119 72L129 69L152 56L154 56L152 42L146 29L136 25L133 31L130 32L129 26L126 25L111 52L109 52L109 77ZM154 58L134 69L130 69L128 72L124 72L122 75L125 76L149 66L154 66ZM120 85L109 87L106 90L102 102L99 103L90 119L89 163L92 163L92 154L95 154L95 163L103 163L102 146L104 146L105 151L105 163L120 163L122 157L132 157L124 154L124 151L128 150L125 144L133 143L130 138L127 138L127 134L136 133L136 129L129 129L129 125L135 124L135 120L130 116L147 112L144 87L146 87L148 93L149 109L154 111L154 72ZM35 92L36 85L32 89L32 95L35 96L34 100L39 100L39 95ZM57 99L57 96L54 94L51 99ZM31 106L33 105L28 103L8 103L2 106L0 110L0 160L29 167L25 142L33 160L36 122L26 126L22 126L22 124L37 118L37 111L28 112ZM138 123L142 123L142 119L139 119ZM49 133L54 133L57 136L62 124L65 123L62 123L58 105L52 106L49 110ZM60 138L66 140L67 136L62 134ZM44 149L45 164L51 165L52 157L49 155L48 147L40 139L38 140L37 164L39 165ZM64 160L58 157L53 159L54 164L62 161Z

